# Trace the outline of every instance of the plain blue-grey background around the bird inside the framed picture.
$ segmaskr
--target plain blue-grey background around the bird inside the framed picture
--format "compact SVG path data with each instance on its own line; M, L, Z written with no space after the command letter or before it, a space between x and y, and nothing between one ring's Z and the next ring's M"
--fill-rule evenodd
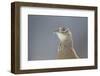
M28 16L28 60L56 59L58 37L53 32L59 26L70 28L74 48L81 58L88 56L88 18L71 16Z

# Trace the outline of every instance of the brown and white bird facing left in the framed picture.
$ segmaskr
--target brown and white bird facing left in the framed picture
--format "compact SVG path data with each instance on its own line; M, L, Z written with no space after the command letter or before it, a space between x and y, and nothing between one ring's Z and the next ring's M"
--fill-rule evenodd
M57 51L57 59L77 59L79 58L73 47L72 33L69 28L64 26L58 27L55 31L58 39L59 46Z

